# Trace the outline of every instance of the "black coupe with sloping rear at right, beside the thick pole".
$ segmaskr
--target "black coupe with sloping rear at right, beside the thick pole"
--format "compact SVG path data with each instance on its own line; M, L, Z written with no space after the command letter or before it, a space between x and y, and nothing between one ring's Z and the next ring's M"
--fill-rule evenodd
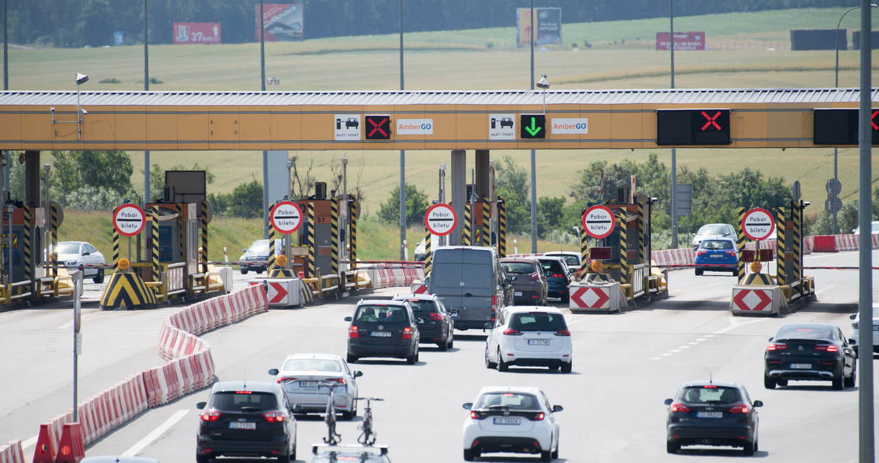
M830 323L781 325L766 345L763 384L774 389L788 380L830 380L836 390L854 387L855 343Z

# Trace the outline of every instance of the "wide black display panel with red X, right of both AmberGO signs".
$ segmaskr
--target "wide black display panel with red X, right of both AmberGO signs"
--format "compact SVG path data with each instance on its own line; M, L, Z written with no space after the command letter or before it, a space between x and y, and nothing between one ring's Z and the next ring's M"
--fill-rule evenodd
M657 110L657 145L729 145L730 110Z

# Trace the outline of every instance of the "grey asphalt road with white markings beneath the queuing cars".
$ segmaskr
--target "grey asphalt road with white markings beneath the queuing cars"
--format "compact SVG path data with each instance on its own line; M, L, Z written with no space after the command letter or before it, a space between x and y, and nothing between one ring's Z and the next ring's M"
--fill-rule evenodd
M879 256L874 252L874 258ZM856 265L857 253L817 254L806 265ZM457 332L454 349L424 344L418 365L367 359L361 395L378 396L374 428L378 442L390 445L396 462L461 461L461 403L472 402L485 385L541 387L550 402L563 405L557 461L715 461L739 455L731 448L687 448L665 452L665 405L685 380L738 380L759 409L759 452L766 461L856 461L857 389L832 391L829 382L793 382L792 387L762 386L766 340L784 322L833 322L849 332L856 310L857 272L814 270L818 301L777 317L733 317L725 275L695 277L673 271L670 298L621 314L568 315L574 344L573 373L512 368L508 373L483 365L484 335ZM875 272L874 272L875 274ZM240 273L236 274L242 279ZM247 277L252 277L248 275ZM249 278L244 278L249 279ZM242 279L242 284L244 283ZM874 288L879 281L874 276ZM236 283L237 285L237 283ZM238 286L241 287L241 286ZM396 290L380 290L392 294ZM876 296L874 291L874 299ZM355 300L297 309L271 310L236 325L207 333L219 380L272 380L266 372L292 352L345 352L343 317ZM552 305L559 305L556 303ZM179 307L145 311L86 308L83 355L79 356L79 398L84 400L128 375L160 365L159 323ZM69 409L72 397L72 322L66 307L39 307L0 313L0 443L25 439L33 455L39 424ZM879 376L879 375L876 375ZM207 391L150 409L91 445L86 454L149 456L163 462L193 461L198 410ZM309 444L326 429L320 417L298 421L298 458L308 461ZM360 434L360 418L339 423L344 443ZM28 457L30 459L30 457ZM526 456L489 456L483 461L536 461ZM254 461L228 459L233 463Z

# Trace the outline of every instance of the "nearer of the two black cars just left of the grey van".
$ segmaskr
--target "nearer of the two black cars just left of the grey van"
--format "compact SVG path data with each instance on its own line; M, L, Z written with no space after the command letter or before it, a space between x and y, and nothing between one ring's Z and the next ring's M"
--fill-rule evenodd
M354 316L346 316L348 327L348 363L363 357L404 358L418 362L417 319L409 302L404 300L360 300Z

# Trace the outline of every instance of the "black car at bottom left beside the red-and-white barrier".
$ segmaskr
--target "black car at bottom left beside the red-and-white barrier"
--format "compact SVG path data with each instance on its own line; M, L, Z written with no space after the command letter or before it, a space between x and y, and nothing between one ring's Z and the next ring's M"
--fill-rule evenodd
M226 457L296 459L296 421L280 385L256 381L214 384L199 402L195 460ZM293 412L298 406L294 406Z

